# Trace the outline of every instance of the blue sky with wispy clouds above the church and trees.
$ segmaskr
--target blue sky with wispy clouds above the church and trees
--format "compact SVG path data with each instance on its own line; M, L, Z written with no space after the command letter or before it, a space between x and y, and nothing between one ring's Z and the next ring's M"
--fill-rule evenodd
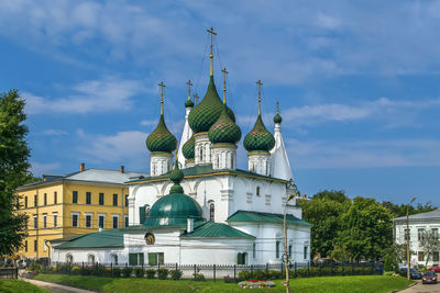
M35 176L150 170L160 115L179 139L188 79L227 67L243 137L282 132L301 193L440 205L440 1L0 0L0 91L26 100ZM221 94L221 93L220 93ZM239 143L239 168L246 156Z

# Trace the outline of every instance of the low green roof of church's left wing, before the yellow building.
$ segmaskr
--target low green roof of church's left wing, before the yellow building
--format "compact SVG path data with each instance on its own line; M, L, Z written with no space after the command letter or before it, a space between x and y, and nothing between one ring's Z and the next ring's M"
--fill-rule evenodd
M123 247L123 229L109 229L66 237L53 243L59 241L64 243L56 246L56 249Z

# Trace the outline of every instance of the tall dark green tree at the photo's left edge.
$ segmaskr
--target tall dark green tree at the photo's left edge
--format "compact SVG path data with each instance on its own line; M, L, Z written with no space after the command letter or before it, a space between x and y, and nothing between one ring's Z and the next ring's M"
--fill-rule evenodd
M15 193L32 180L24 104L16 90L0 94L0 256L14 255L25 236L26 216L16 212Z

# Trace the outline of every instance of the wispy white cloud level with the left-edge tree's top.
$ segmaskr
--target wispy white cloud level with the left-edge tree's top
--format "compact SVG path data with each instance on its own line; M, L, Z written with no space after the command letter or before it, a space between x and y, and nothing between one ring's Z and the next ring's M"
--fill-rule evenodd
M26 113L70 113L127 111L132 106L132 98L146 92L140 80L118 79L89 80L73 87L73 93L66 97L43 98L23 92L26 100Z

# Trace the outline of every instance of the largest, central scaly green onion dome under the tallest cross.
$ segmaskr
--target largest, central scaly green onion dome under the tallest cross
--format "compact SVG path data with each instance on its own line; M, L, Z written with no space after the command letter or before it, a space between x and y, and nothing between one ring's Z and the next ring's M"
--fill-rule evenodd
M201 100L189 113L188 122L194 133L208 132L219 119L223 108L223 102L217 92L213 77L209 79L208 90ZM235 122L232 110L227 108L228 115Z

